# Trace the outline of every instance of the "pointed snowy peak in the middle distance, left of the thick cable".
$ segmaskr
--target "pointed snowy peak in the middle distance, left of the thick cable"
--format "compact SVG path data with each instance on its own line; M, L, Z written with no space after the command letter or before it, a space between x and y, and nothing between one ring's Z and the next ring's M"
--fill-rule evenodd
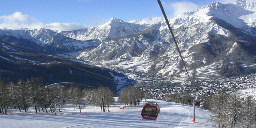
M62 31L61 34L76 40L93 40L108 41L126 35L134 34L147 28L146 25L132 24L123 20L111 18L104 25L97 27L89 27L74 31Z

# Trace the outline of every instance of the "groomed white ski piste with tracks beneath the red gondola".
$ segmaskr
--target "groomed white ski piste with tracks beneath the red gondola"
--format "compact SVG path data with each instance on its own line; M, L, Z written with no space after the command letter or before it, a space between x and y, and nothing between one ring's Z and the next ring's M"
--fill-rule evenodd
M150 100L159 104L160 115L155 121L142 120L140 106L130 106L124 109L109 113L90 113L84 115L1 115L1 128L212 128L212 124L207 122L210 111L196 108L196 123L192 123L193 106L183 106L176 103L160 100ZM119 109L123 104L111 106L112 109ZM82 111L100 110L100 107L91 107ZM77 110L66 108L65 112ZM87 110L88 111L88 110ZM63 112L63 110L62 110Z

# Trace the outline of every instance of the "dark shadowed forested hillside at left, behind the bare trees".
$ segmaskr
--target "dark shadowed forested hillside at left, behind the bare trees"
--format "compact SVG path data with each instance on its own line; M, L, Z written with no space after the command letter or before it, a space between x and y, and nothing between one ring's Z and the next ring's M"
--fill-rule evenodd
M71 61L68 58L51 56L53 59L65 62L69 65L84 69L89 72L29 53L5 54L1 52L1 56L6 59L2 57L0 58L0 77L2 77L2 79L7 83L11 81L17 82L19 79L27 80L31 77L42 77L43 80L49 84L58 83L60 81L74 82L83 84L85 88L88 86L95 88L104 86L110 88L113 91L115 91L117 86L117 83L112 80L89 73L93 72L113 79L114 77L109 72L115 75L117 74L116 72L109 69L102 70L102 68Z

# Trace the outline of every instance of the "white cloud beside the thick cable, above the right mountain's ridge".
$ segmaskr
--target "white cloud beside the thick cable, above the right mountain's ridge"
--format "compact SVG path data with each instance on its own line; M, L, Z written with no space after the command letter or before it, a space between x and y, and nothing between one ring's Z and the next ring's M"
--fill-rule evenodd
M172 17L175 17L185 12L191 12L202 7L201 5L197 5L195 3L186 2L186 1L169 3L169 4L163 2L163 6L165 6L167 10L173 11Z

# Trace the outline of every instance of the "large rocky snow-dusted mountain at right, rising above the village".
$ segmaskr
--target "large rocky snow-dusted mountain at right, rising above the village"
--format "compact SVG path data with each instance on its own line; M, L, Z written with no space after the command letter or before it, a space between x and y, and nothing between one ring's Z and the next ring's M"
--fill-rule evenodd
M255 4L246 1L237 1L236 4L216 2L169 19L191 76L218 76L216 65L227 65L222 63L220 58L228 55L231 57L230 61L236 61L232 58L239 56L238 52L255 54L254 50L247 51L249 47L255 47L255 28L246 27L247 23L241 20L241 16L255 13L246 10L249 3ZM255 6L250 8L254 10ZM219 39L214 38L215 36ZM227 39L230 41L217 43ZM223 48L218 48L221 45ZM124 69L145 73L157 71L167 76L178 75L180 78L187 78L165 21L139 33L103 42L92 51L80 54L78 58L100 61L104 66L122 66ZM246 62L250 58L241 60L245 65L255 65L255 62Z

